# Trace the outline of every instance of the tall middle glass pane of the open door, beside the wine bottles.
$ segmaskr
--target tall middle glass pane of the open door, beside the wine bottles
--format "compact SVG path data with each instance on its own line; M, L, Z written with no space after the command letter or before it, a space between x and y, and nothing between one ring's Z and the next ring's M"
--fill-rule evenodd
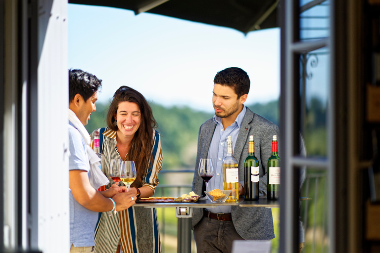
M307 157L327 156L327 106L330 53L321 48L299 55L300 132ZM305 155L305 150L300 150Z

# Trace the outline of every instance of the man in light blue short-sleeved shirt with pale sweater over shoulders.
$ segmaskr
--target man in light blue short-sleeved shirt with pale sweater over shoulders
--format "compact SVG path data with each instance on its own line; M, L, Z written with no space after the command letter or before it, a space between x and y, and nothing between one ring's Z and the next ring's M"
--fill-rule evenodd
M69 70L70 253L94 251L98 212L111 211L114 215L113 211L128 209L136 200L135 194L124 192L125 187L99 192L90 183L91 158L95 152L84 126L96 110L96 92L100 86L101 80L94 75Z

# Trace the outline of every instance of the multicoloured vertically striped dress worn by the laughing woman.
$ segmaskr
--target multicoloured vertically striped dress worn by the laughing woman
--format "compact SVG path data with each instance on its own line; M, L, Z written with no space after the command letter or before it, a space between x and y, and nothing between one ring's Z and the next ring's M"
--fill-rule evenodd
M99 129L96 129L99 131ZM95 131L94 131L95 132ZM94 139L95 133L91 133ZM93 142L91 143L93 147ZM111 159L120 159L116 148L116 131L106 127L103 132L102 154L104 154L104 165L102 170L113 181L108 174ZM162 149L159 133L153 129L153 166L142 179L142 186L148 186L155 191L160 182L157 178L162 168ZM120 182L122 185L122 182ZM95 253L115 253L117 245L121 244L123 253L161 253L160 233L155 208L131 207L108 216L108 212L102 212L95 229Z

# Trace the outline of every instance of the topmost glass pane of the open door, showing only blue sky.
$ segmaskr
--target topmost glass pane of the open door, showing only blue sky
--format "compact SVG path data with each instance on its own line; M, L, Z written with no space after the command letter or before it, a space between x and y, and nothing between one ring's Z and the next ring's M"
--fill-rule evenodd
M330 0L300 0L299 38L313 41L329 37Z

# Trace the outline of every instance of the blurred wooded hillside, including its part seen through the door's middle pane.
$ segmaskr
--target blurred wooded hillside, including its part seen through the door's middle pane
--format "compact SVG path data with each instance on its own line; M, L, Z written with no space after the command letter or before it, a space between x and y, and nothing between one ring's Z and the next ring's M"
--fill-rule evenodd
M247 105L254 113L279 125L279 102ZM91 133L95 128L106 127L106 113L109 103L96 103L96 111L86 126ZM165 169L194 168L198 131L203 122L214 114L196 111L186 106L165 107L151 104L154 118L161 134L161 146L164 151ZM312 98L306 108L303 137L309 154L324 155L326 147L323 136L326 135L326 106L317 98Z

